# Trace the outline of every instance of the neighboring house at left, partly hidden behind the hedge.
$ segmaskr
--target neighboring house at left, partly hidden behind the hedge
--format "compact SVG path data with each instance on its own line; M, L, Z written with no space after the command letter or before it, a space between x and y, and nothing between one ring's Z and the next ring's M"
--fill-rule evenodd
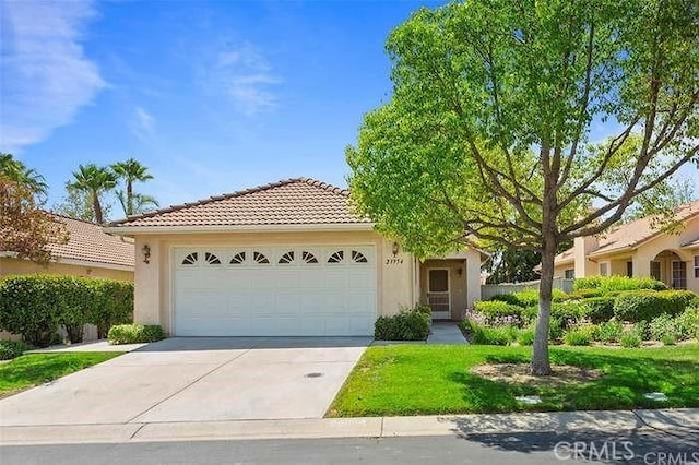
M94 223L51 215L66 225L68 242L48 246L52 259L47 264L0 252L0 276L47 273L133 281L133 240L106 234Z

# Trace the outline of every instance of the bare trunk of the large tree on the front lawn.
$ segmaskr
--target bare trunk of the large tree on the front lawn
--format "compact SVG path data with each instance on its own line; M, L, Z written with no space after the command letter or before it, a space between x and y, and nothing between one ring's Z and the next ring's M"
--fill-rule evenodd
M550 320L552 290L554 287L554 258L556 240L544 238L542 250L542 278L538 282L538 318L534 333L534 353L532 354L532 374L543 377L550 374L548 359L548 323Z

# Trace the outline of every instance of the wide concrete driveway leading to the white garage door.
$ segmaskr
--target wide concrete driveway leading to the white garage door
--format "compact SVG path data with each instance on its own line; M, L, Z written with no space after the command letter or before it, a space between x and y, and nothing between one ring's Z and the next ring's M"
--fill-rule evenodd
M174 337L0 401L0 426L321 418L371 341Z

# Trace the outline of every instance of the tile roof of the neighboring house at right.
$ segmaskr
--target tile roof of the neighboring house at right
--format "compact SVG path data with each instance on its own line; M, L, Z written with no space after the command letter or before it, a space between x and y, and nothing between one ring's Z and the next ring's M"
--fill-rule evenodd
M678 222L686 222L697 215L699 215L699 201L686 203L675 208L675 219ZM597 248L592 251L590 255L602 255L616 250L636 247L641 242L663 234L657 229L657 227L655 227L653 222L654 218L656 217L647 216L644 218L639 218L617 226L608 233L601 235ZM572 248L557 255L556 263L564 261L565 259L559 259L559 257L567 253L572 254Z

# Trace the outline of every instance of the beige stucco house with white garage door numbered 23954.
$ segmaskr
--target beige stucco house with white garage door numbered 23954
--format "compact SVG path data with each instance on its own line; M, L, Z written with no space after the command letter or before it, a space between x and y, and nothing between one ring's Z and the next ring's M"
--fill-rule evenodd
M350 206L348 192L284 180L111 223L135 239L135 313L177 336L371 335L378 315L429 302L460 319L481 252L424 262Z

